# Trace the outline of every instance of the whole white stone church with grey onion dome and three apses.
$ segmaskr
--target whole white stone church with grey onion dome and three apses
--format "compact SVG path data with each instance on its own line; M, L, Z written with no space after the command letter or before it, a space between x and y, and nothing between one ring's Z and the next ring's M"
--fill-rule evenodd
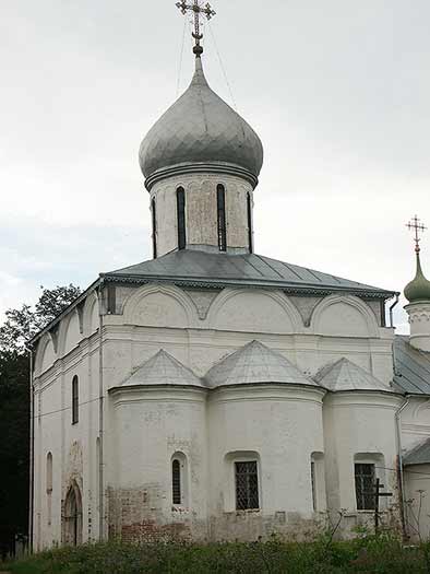
M194 51L140 150L154 258L101 273L33 341L34 549L303 538L338 512L349 536L372 524L377 479L382 524L415 537L430 526L419 253L410 337L386 323L396 291L254 254L262 143Z

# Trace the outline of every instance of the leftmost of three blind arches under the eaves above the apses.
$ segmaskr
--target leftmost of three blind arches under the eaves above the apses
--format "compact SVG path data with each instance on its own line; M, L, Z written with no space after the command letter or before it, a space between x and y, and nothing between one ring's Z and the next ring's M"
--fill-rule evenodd
M199 321L198 309L181 289L145 285L124 305L124 324L143 327L190 328Z

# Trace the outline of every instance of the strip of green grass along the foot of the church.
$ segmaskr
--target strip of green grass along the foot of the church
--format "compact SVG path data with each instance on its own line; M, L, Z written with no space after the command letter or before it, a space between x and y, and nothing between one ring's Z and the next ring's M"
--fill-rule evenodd
M300 544L92 544L0 565L12 574L430 574L428 546L404 549L395 538ZM429 562L430 563L430 562Z

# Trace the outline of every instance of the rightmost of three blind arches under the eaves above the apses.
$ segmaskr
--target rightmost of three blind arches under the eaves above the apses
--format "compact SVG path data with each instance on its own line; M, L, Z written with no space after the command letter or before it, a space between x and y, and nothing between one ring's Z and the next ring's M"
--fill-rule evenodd
M378 337L379 327L371 309L353 295L330 295L313 309L311 330L333 337Z

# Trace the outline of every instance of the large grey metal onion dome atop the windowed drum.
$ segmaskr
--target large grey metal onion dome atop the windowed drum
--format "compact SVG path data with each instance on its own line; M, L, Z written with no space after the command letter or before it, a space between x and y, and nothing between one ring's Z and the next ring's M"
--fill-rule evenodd
M263 145L255 131L211 90L201 58L184 94L148 131L140 150L146 187L178 173L232 173L258 184Z

